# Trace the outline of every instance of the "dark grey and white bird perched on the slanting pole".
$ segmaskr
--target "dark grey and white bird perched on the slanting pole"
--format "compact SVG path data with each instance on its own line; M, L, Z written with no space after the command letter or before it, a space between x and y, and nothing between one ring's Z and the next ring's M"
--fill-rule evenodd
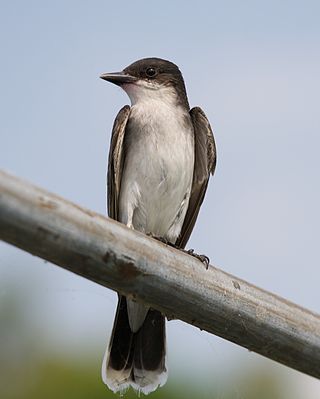
M131 101L112 129L108 215L183 250L216 166L210 123L200 107L190 109L182 73L170 61L144 58L100 78ZM118 294L103 382L113 392L131 386L147 395L167 375L165 316Z

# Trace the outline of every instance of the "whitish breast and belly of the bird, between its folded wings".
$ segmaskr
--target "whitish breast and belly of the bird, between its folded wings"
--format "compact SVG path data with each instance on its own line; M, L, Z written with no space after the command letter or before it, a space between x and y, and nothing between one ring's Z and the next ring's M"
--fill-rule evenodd
M194 169L189 114L163 98L132 106L125 137L120 219L175 242L187 211Z

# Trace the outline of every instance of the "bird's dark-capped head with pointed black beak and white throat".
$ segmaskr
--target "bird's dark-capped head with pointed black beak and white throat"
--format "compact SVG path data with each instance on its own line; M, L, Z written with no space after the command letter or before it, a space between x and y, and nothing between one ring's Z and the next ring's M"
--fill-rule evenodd
M122 87L132 104L139 101L174 101L189 109L186 88L179 68L161 58L144 58L122 72L104 73L101 79Z

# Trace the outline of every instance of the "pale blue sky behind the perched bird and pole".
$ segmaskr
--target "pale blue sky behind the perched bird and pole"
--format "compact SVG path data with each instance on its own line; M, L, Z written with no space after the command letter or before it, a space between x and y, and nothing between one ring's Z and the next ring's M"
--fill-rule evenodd
M99 75L169 59L218 151L188 246L319 312L319 18L308 0L1 1L0 166L105 214L110 133L128 98ZM24 316L13 352L25 328L43 351L100 362L115 293L0 243L0 309L12 292ZM210 385L246 365L276 370L297 398L320 396L313 378L179 321L167 330L169 378Z

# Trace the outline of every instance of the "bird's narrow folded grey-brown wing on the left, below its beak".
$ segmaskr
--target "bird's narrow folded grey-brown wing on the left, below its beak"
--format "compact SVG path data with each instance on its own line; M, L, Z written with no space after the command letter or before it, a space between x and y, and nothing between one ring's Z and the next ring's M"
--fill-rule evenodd
M119 111L112 128L107 174L108 215L115 220L119 218L119 194L123 170L123 139L130 115L129 105Z

